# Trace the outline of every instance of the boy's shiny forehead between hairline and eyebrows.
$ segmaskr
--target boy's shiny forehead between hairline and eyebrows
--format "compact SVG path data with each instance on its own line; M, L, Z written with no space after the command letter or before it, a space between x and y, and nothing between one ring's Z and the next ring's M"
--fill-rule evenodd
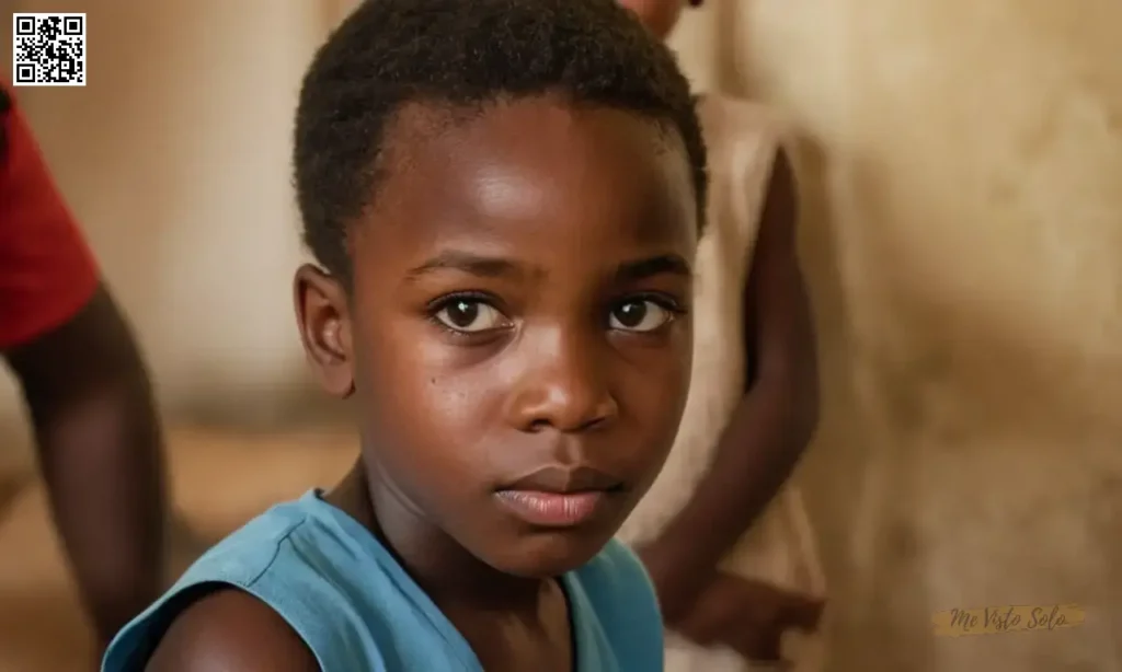
M561 232L589 244L675 249L696 235L684 149L657 122L525 100L471 118L414 108L395 125L380 206L360 235L388 227L410 248L438 239L503 246Z

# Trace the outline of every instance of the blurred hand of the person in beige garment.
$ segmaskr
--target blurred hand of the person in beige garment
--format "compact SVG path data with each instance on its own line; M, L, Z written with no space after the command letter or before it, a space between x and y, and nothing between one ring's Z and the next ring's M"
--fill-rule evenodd
M672 629L702 646L728 646L749 661L781 662L783 633L813 632L824 607L821 599L718 572Z

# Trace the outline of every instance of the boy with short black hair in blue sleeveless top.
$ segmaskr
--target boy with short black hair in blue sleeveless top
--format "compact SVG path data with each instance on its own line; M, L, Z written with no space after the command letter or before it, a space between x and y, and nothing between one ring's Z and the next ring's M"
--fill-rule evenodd
M295 304L361 456L118 635L103 670L657 672L613 534L690 379L689 85L615 0L368 0L296 114Z

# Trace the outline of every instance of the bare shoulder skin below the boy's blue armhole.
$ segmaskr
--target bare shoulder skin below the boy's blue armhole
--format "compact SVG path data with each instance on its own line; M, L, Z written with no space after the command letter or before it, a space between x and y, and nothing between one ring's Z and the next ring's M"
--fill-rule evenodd
M312 651L272 608L234 588L187 607L146 672L320 672Z

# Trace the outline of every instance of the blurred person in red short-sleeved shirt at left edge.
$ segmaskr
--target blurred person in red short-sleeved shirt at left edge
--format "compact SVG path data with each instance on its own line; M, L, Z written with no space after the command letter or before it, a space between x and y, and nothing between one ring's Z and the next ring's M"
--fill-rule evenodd
M164 468L137 343L0 81L0 353L103 650L160 590Z

